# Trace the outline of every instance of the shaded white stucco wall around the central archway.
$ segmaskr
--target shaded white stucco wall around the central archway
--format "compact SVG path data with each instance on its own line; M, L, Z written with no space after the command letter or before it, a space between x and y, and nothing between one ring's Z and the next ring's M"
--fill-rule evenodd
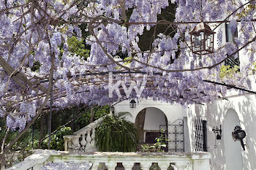
M165 125L165 117L159 113L164 113L168 124L175 122L178 119L184 120L184 150L190 152L190 142L187 137L187 107L183 107L180 104L168 104L161 101L153 101L151 99L142 99L136 101L136 108L129 108L129 101L122 101L116 104L115 113L129 112L132 116L127 116L127 120L135 123L138 113L146 108L146 117L144 130L159 130L159 125ZM177 123L177 122L176 122ZM171 137L171 136L169 136ZM169 138L170 139L170 138Z

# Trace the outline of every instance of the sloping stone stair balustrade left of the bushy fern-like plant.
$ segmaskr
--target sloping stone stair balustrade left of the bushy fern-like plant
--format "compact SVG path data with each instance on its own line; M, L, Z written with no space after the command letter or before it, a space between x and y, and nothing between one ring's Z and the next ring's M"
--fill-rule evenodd
M64 138L64 150L74 152L95 152L97 151L94 144L95 128L97 128L104 117L95 120L93 123L86 125L76 131L73 135L63 136Z

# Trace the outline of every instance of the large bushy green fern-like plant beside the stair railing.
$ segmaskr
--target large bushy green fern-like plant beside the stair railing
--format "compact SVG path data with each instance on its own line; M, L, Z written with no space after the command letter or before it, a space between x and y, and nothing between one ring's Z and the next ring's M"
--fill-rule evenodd
M134 123L124 120L129 112L107 115L96 129L95 140L99 151L135 152L138 142L138 130Z

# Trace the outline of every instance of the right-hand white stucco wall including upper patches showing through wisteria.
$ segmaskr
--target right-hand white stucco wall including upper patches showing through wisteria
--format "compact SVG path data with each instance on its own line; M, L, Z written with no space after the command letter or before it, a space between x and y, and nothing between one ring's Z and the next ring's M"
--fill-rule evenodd
M238 30L241 28L238 24ZM216 32L222 30L222 45L225 45L226 35L225 35L225 24L223 23ZM239 36L239 35L238 35ZM214 47L217 46L217 34L215 34ZM216 46L215 46L216 45ZM240 72L244 74L244 68L248 66L249 57L245 54L245 49L239 52L239 61L240 61ZM252 90L256 91L254 75L250 75L249 79L252 80ZM245 87L246 88L246 87ZM189 141L192 151L195 151L194 139L194 117L203 116L207 120L207 146L208 152L211 153L211 169L212 170L230 170L236 167L236 170L240 170L238 160L240 152L241 154L241 164L243 170L255 170L256 169L256 96L254 94L244 94L238 95L238 91L230 90L229 95L225 98L227 100L217 99L208 103L206 105L189 105L187 109L188 117L188 127L189 127ZM228 112L236 112L238 117L238 123L235 123L236 116L230 116ZM234 119L234 120L227 120ZM231 129L235 128L234 124L240 124L241 128L246 131L246 138L244 143L246 144L246 150L244 151L241 147L240 142L234 142L230 140L231 138ZM215 135L212 131L214 126L222 125L222 139L217 140L217 148L214 148L215 144ZM232 127L230 127L232 126ZM231 148L234 147L233 151ZM235 148L236 147L236 148ZM239 147L239 148L237 148ZM234 151L236 150L236 151ZM235 154L235 152L237 154ZM232 158L230 158L232 157ZM230 165L230 164L233 165ZM233 167L232 167L233 166Z

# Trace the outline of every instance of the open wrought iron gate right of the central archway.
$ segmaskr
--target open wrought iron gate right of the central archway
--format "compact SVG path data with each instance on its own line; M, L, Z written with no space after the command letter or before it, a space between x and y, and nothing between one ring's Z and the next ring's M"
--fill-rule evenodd
M164 129L166 138L167 150L170 152L184 152L184 120L178 119L167 125L160 125L160 129Z

